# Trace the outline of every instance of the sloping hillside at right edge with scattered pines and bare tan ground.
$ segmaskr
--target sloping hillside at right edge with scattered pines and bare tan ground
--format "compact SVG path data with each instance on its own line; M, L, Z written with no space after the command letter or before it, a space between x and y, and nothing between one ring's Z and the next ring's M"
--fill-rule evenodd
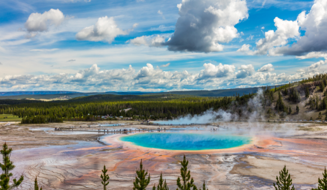
M266 104L267 118L326 120L326 86L325 73L266 90L265 96L271 99Z

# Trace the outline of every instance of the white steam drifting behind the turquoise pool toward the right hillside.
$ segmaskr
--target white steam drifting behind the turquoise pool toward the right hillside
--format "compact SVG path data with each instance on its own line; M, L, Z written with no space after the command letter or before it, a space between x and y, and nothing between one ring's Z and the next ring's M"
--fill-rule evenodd
M226 133L242 133L245 135L267 135L267 136L289 136L293 135L295 126L289 123L270 123L266 127L265 118L266 109L264 106L265 97L260 89L255 96L248 99L246 104L239 105L234 101L228 110L207 110L203 114L188 114L177 119L163 121L158 123L167 124L190 124L190 123L217 123L228 129ZM240 112L241 110L241 112ZM241 121L241 122L238 122ZM234 123L235 122L235 123ZM272 121L273 122L273 121ZM306 124L303 124L306 125ZM293 126L293 127L292 127ZM208 127L211 128L211 127ZM220 132L221 133L221 132Z

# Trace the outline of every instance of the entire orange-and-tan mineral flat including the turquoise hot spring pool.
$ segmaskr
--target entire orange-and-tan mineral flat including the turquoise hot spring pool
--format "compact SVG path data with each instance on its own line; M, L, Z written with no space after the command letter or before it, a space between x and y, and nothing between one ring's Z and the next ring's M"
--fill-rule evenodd
M160 131L127 122L0 125L1 142L14 149L14 177L25 176L23 190L30 189L35 176L45 190L98 190L103 165L108 189L131 190L141 159L151 187L163 172L176 189L184 154L195 183L205 180L209 190L273 190L284 165L297 189L311 190L327 163L327 127L319 124L221 122L219 128L172 125ZM132 132L118 132L123 129Z

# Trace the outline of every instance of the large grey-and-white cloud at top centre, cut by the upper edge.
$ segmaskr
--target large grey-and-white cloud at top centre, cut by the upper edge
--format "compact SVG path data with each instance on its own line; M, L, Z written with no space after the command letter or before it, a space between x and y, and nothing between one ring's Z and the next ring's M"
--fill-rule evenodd
M219 52L240 34L234 27L248 18L245 0L183 0L177 5L180 18L171 40L170 51Z

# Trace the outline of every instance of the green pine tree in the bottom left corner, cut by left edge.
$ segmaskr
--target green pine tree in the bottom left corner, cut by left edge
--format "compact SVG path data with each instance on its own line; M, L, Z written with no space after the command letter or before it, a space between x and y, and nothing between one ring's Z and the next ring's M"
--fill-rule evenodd
M20 183L24 180L24 176L21 175L19 180L13 179L13 183L9 185L9 179L11 176L13 176L13 173L10 173L9 171L12 171L15 168L15 165L13 165L13 162L10 161L10 154L12 152L12 149L8 149L8 146L6 143L2 145L2 150L0 153L2 154L2 161L3 164L0 163L0 168L2 170L2 174L0 176L0 190L11 190L20 185Z

